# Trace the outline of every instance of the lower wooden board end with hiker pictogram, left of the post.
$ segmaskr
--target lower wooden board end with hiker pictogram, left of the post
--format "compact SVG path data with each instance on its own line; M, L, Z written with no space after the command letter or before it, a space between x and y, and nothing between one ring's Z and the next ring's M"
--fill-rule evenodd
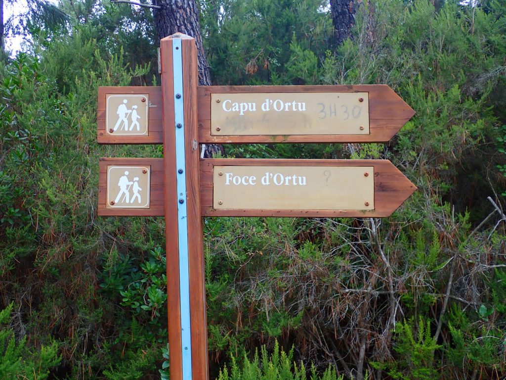
M99 170L99 215L164 215L162 159L102 158Z

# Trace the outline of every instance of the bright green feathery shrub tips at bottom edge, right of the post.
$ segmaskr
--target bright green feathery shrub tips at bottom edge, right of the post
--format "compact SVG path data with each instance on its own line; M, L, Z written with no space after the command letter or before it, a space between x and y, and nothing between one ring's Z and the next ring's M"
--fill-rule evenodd
M230 370L225 366L218 376L218 380L306 380L306 378L308 377L304 363L301 362L298 366L293 361L293 348L288 353L285 353L282 348L280 351L277 340L272 354L267 352L267 347L264 345L261 347L261 355L259 356L257 349L252 361L246 355L240 362L238 358L232 356ZM338 377L330 366L322 375L319 375L316 367L311 365L309 379L343 380L343 376Z

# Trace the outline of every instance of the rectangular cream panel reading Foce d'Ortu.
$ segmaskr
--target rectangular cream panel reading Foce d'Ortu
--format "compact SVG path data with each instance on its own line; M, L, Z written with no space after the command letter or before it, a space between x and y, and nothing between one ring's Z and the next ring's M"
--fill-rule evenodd
M215 166L214 209L373 210L372 166Z

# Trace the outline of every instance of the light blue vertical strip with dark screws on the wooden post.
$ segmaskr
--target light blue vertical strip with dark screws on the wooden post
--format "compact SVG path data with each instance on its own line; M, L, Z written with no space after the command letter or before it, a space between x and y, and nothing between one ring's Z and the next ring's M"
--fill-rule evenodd
M183 56L181 39L173 40L174 116L176 123L176 167L178 190L179 282L181 299L181 350L183 380L191 380L190 278L188 263L188 224L186 209L186 162L183 108Z

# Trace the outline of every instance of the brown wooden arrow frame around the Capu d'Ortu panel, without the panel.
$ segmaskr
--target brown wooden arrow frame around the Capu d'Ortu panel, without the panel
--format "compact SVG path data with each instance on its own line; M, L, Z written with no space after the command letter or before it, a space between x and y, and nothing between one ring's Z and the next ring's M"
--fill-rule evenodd
M210 134L211 94L213 93L291 93L291 92L368 92L369 128L367 135L257 135L212 136ZM203 86L198 88L200 143L276 143L276 142L387 142L411 119L413 109L387 85L358 86Z

